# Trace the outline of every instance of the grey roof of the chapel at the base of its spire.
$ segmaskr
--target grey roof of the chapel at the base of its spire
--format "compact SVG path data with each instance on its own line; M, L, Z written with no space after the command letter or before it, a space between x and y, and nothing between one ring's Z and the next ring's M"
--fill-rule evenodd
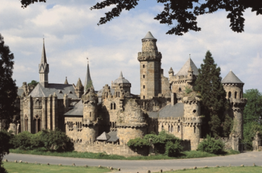
M37 84L37 87L33 89L30 96L48 97L50 94L53 96L54 93L56 93L58 99L63 99L64 94L68 94L68 98L78 98L72 84L48 84L48 88L44 88L42 84Z

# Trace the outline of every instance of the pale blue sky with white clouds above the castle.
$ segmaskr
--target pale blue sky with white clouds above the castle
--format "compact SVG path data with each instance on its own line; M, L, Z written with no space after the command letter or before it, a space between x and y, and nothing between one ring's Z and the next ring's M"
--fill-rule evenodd
M100 0L101 1L101 0ZM49 63L49 83L61 83L68 77L76 84L85 82L87 57L95 90L117 79L120 71L131 84L131 93L139 94L139 61L142 38L151 32L162 53L162 68L175 74L189 58L200 68L206 51L211 51L221 69L221 77L230 70L244 82L244 90L262 91L262 15L244 12L244 32L233 32L226 11L197 18L200 32L183 36L166 34L170 26L154 17L163 10L156 1L139 1L137 8L123 11L104 25L97 25L103 10L90 10L97 0L47 0L21 8L18 0L1 0L0 33L15 56L13 79L39 81L38 65L42 56L43 36Z

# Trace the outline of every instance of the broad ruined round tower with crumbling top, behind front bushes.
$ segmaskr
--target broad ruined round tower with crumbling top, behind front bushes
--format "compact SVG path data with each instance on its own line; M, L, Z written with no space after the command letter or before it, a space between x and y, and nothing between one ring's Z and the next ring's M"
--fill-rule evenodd
M147 134L146 115L135 100L128 100L123 112L118 112L118 138L120 143L130 139L143 138Z

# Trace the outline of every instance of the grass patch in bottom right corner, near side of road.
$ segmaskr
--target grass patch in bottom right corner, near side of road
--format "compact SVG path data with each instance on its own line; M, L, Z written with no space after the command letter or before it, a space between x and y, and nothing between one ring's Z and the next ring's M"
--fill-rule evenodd
M237 173L246 173L246 172L262 172L262 167L208 167L208 168L197 168L197 169L180 169L180 170L175 170L173 172L183 172L183 173L232 173L232 172L237 172ZM172 172L172 173L173 173ZM164 173L171 173L170 171L164 172Z

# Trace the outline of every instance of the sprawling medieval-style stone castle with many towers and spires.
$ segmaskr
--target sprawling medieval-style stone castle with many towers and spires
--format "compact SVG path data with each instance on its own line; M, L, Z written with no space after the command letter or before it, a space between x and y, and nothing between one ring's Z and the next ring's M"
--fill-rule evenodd
M189 58L177 74L173 69L163 76L161 52L148 32L142 39L142 52L138 53L140 65L140 95L131 94L131 84L123 77L94 91L89 64L85 83L49 83L49 64L43 43L39 64L39 84L34 89L18 89L20 101L20 131L37 133L42 129L59 128L75 143L75 150L106 152L120 155L139 155L126 143L151 132L166 130L185 141L185 148L196 150L201 141L200 100L196 94L187 94L199 75L198 68ZM229 148L238 149L243 139L244 83L230 70L222 81L230 100L230 117L234 129L227 142ZM91 86L87 89L87 85ZM17 132L18 124L11 124ZM227 145L228 146L228 145ZM146 151L142 151L146 152ZM146 154L146 153L144 153Z

